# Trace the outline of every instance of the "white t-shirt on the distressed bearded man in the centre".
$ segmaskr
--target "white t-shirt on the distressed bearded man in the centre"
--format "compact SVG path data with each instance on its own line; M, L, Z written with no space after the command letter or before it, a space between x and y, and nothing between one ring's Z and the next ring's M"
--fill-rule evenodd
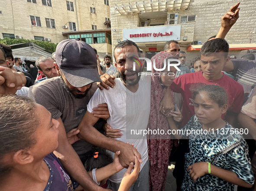
M92 108L97 107L98 104L107 103L110 117L107 119L107 123L113 129L119 129L123 135L117 140L123 142L134 143L134 147L138 148L138 152L141 154L143 163L140 166L140 170L147 162L148 146L146 136L129 135L129 139L126 138L126 131L130 134L131 129L145 129L148 125L149 113L150 113L150 80L151 76L143 75L139 80L139 88L133 93L126 86L123 85L120 78L115 79L116 85L113 88L97 89L94 96L91 98L87 106L87 111L92 112ZM127 134L128 137L128 134ZM114 157L114 153L110 152ZM120 183L126 169L110 176L110 181Z

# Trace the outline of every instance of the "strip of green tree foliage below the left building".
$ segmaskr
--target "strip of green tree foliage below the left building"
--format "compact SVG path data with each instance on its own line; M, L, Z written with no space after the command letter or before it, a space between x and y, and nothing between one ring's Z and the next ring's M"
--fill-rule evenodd
M0 39L0 43L6 44L6 45L15 45L15 44L26 43L26 42L33 42L36 45L39 45L40 47L50 52L55 52L56 46L58 45L52 42L36 41L36 40L28 40L28 39L11 39L11 38Z

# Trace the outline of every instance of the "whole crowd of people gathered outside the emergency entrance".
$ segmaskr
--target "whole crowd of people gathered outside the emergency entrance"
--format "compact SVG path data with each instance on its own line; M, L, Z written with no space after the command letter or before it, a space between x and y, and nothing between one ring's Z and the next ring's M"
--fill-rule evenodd
M78 39L30 68L0 44L1 190L163 191L174 148L177 191L256 189L256 60L224 40L239 5L190 67L174 40L150 67L130 40L115 66Z

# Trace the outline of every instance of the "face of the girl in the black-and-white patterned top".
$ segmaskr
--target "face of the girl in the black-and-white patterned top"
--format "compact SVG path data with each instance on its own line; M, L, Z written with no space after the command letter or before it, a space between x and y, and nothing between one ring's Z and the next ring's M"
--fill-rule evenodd
M200 92L194 98L194 112L201 124L210 124L219 120L226 111L209 99L207 93Z

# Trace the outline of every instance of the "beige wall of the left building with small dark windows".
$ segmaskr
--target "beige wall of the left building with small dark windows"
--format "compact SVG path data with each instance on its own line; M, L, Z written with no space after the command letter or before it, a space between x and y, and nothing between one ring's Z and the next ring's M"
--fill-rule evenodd
M37 3L29 3L26 0L1 0L0 1L0 38L2 33L10 33L22 36L24 39L34 39L34 36L50 38L51 42L58 43L67 36L62 32L68 32L69 23L75 22L76 30L91 30L91 25L97 25L97 29L105 29L105 17L110 18L110 8L104 5L104 0L70 0L74 3L74 11L67 10L65 0L52 0L52 6L42 5L42 0ZM96 13L90 13L90 7L94 7ZM40 17L41 27L32 26L30 16ZM45 18L55 20L55 29L46 27ZM68 29L64 29L67 25Z

